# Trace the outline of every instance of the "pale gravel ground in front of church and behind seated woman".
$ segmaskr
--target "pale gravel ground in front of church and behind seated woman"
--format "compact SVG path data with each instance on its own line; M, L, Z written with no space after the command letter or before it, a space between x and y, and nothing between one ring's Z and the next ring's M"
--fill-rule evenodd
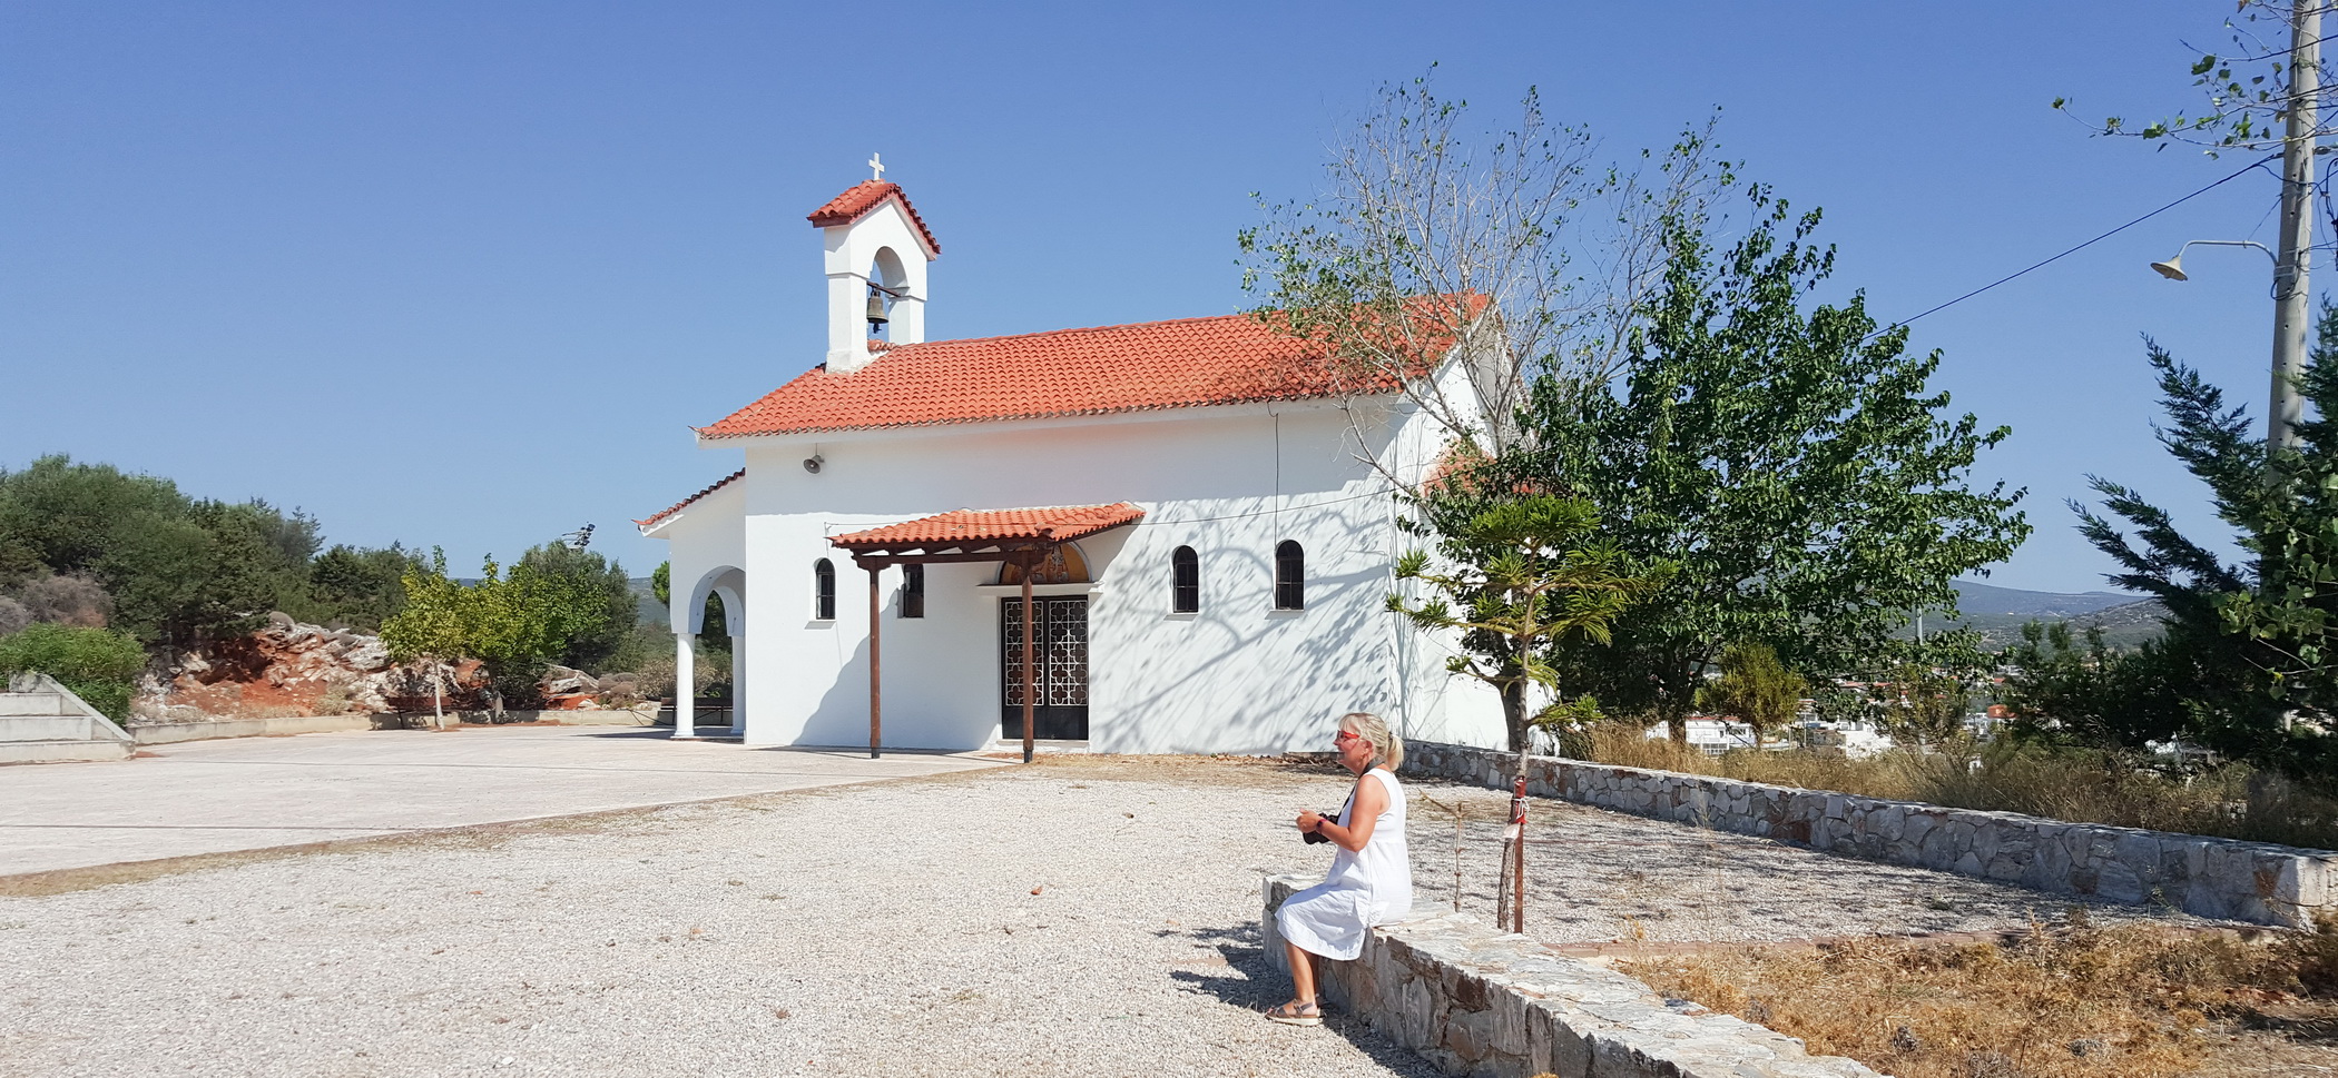
M1337 1015L1256 1015L1288 994L1258 872L1319 868L1288 818L1342 790L1274 762L1054 760L0 898L0 1073L1429 1076ZM1503 800L1422 793L1475 809L1464 907L1489 912ZM1550 942L1976 931L2067 905L1536 811L1566 839L1531 872ZM1422 903L1450 903L1450 816L1412 818Z

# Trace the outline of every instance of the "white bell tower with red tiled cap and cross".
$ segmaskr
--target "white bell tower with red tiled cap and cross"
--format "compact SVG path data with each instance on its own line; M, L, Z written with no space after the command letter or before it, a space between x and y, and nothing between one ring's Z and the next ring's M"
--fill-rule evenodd
M828 372L851 374L877 358L870 339L926 339L926 267L942 246L926 229L884 161L870 154L872 175L807 217L821 229L828 264Z

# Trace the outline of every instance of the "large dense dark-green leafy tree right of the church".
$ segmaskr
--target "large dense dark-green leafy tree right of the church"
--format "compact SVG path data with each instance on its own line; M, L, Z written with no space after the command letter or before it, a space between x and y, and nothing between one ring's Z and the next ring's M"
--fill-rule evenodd
M1522 414L1517 482L1585 498L1618 550L1679 566L1611 645L1555 655L1571 685L1674 739L1728 643L1768 641L1793 669L1873 669L1908 650L1894 629L1912 610L1955 610L1950 580L2029 535L2022 491L1969 482L2006 428L1950 414L1927 388L1941 353L1908 355L1908 330L1880 330L1863 295L1805 311L1835 260L1810 241L1819 215L1758 185L1746 196L1730 250L1702 215L1665 222L1665 283L1623 379L1536 379Z

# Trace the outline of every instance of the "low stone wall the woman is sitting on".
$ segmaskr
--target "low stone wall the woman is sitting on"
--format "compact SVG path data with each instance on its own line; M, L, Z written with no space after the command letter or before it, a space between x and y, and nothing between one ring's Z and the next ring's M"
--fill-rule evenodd
M1274 910L1305 877L1265 879L1260 935L1286 966ZM1356 961L1321 961L1319 994L1445 1073L1527 1078L1875 1078L1854 1059L1718 1015L1468 914L1372 928Z

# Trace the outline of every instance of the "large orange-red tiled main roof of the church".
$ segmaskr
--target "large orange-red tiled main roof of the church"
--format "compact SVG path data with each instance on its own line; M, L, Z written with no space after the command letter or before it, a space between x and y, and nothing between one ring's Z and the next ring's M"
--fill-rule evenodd
M1471 306L1482 309L1482 299ZM1443 355L1426 355L1429 372ZM1389 393L1253 316L895 344L853 374L814 367L699 437L804 435Z

